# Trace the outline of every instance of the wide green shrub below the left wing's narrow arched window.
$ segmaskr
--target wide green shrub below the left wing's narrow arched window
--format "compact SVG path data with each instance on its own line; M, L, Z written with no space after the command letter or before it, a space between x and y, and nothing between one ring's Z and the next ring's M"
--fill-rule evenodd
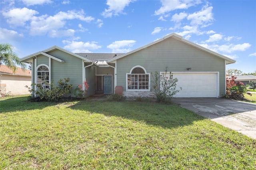
M29 98L31 101L58 102L60 101L60 99L63 98L64 94L70 93L72 85L68 84L69 80L70 78L58 80L58 87L54 85L53 80L51 81L51 84L49 84L48 82L44 82L45 86L48 88L45 88L45 86L42 86L42 84L36 83L31 84L31 86L36 86L36 90L31 89L28 86L25 87L28 88L28 91L32 94Z

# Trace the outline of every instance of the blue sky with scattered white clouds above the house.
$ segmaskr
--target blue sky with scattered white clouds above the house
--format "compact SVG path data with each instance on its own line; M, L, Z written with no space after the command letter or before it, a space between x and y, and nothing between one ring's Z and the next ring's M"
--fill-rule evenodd
M54 45L126 53L169 33L256 70L255 0L1 0L0 43L20 58Z

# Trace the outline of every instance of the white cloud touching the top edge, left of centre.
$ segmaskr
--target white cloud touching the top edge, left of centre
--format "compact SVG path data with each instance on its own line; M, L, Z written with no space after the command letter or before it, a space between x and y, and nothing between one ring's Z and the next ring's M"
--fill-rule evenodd
M109 18L112 17L112 15L118 16L118 14L124 14L124 8L134 1L135 0L107 0L108 9L102 12L102 16Z

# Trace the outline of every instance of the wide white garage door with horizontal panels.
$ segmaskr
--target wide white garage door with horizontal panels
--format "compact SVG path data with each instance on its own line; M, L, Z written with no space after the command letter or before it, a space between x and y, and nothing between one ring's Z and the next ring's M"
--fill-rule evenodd
M182 88L176 98L211 98L218 97L218 73L216 72L173 72L178 78L176 90ZM168 75L169 77L170 75Z

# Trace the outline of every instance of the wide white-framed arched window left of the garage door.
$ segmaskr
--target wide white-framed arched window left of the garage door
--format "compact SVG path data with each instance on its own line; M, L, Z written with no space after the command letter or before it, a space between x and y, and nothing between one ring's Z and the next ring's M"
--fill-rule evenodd
M128 91L149 91L150 74L142 66L134 66L130 73L126 74L126 86Z

